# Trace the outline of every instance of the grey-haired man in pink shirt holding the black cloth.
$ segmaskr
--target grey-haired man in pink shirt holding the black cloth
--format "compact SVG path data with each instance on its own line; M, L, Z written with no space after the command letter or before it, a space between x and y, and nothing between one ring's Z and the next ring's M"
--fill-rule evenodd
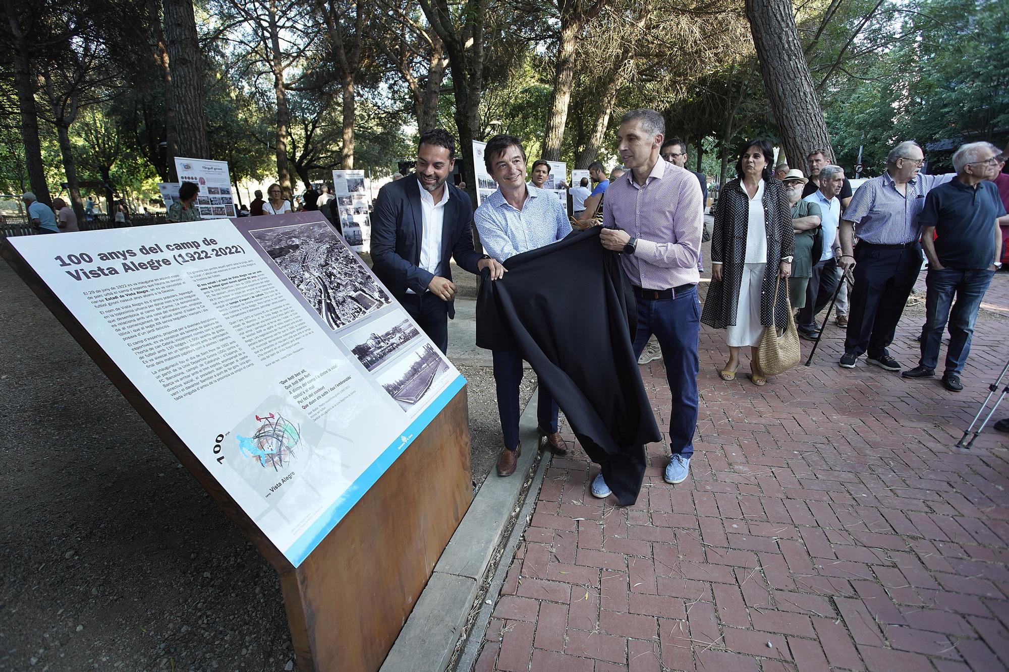
M697 257L704 228L704 204L697 178L662 160L666 124L655 110L632 110L621 119L620 152L628 172L610 183L602 206L603 247L623 252L621 261L638 300L635 357L654 333L666 362L672 393L669 464L665 479L686 479L697 427ZM592 494L609 487L602 474Z

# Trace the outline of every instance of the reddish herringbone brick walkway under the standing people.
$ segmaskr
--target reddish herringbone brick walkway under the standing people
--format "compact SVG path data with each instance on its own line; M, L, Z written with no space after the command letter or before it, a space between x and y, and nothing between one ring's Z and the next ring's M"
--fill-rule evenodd
M986 304L959 395L839 368L836 327L809 368L723 382L705 328L690 478L666 484L653 444L620 509L591 496L580 451L555 459L476 669L1009 668L1009 436L950 448L1009 358L1009 275ZM922 313L892 348L908 365ZM662 362L642 370L668 425Z

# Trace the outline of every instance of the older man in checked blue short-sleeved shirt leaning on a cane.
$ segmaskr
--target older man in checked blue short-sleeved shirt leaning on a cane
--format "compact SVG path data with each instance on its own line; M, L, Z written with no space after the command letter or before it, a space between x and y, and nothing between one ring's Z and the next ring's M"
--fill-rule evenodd
M865 182L852 197L840 221L842 269L854 268L849 297L845 354L838 362L855 368L866 361L888 371L901 363L887 348L921 270L921 225L925 196L955 174L921 175L925 154L916 142L900 142L887 154L886 172ZM854 237L859 237L853 248Z

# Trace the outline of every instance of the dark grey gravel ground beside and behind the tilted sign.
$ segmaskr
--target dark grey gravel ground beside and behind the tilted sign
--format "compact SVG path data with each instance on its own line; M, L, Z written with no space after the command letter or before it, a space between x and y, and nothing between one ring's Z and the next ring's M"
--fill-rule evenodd
M493 378L461 370L482 482ZM0 670L297 669L272 568L6 263L0 415Z

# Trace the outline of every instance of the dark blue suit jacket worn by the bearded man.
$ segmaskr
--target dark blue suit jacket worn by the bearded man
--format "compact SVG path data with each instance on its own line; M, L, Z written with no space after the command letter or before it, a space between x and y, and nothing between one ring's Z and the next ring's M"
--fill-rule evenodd
M473 208L469 196L445 183L449 190L442 224L442 253L438 267L442 277L452 279L449 258L459 266L478 273L480 255L473 249ZM397 301L407 290L424 294L434 274L420 267L421 245L424 242L424 215L421 211L421 186L413 174L390 182L378 191L371 213L372 270L389 289ZM449 318L455 317L452 302Z

